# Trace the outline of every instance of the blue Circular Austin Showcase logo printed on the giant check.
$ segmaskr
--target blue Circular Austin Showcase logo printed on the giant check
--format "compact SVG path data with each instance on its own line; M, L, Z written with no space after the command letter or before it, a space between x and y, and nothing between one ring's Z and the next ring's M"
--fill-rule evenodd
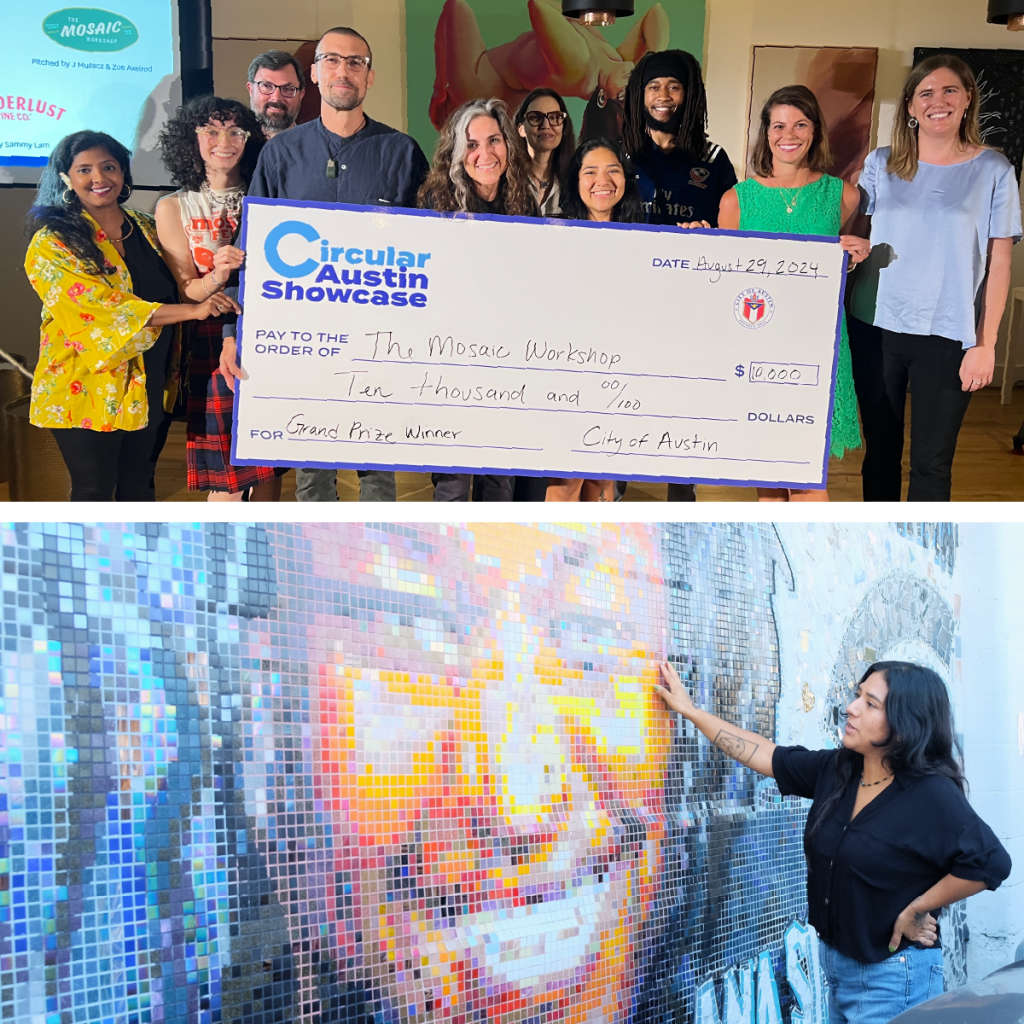
M267 233L263 254L270 269L287 279L264 281L264 299L419 309L427 304L430 253L340 245L304 220L286 220ZM297 283L306 278L312 280Z

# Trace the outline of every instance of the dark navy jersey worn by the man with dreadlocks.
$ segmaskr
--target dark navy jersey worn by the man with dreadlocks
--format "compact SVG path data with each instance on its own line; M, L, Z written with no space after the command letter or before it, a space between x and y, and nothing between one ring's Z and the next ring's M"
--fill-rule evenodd
M647 223L707 220L718 227L719 203L736 183L732 161L720 145L713 145L702 161L679 150L664 153L650 146L633 164Z

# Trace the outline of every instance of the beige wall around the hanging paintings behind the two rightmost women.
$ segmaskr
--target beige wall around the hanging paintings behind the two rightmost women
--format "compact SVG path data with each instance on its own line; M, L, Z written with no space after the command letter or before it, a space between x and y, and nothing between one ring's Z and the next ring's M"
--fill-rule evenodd
M1024 49L1024 32L985 22L987 0L707 0L705 80L712 138L733 161L746 150L755 46L879 48L872 146L888 144L888 126L915 46ZM879 133L879 112L882 132ZM742 176L743 168L737 166ZM1014 252L1012 287L1024 286L1024 244ZM999 329L996 379L1001 382L1007 318ZM1019 365L1015 379L1024 376Z

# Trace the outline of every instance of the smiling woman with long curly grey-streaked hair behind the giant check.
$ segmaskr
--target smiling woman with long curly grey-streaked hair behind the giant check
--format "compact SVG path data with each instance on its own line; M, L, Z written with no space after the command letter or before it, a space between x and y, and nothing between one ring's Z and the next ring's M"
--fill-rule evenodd
M441 126L434 162L420 186L420 209L536 217L529 164L508 108L500 99L471 99ZM434 473L435 502L512 501L515 477Z

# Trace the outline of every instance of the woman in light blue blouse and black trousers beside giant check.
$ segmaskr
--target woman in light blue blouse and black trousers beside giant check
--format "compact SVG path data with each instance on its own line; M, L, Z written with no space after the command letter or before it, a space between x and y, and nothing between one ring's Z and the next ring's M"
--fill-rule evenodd
M978 106L963 60L921 61L892 145L869 154L860 177L872 252L851 278L849 331L865 501L900 500L908 387L907 500L949 501L964 415L992 381L1021 208L1010 162L981 142Z

